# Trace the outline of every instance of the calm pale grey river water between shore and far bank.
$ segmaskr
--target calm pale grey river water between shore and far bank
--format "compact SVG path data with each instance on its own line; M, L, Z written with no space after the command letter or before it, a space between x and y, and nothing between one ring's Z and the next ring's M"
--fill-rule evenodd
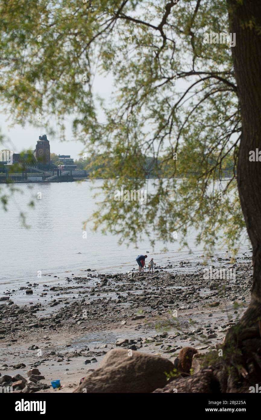
M94 181L100 186L102 180ZM91 182L15 184L19 192L13 194L8 212L0 208L1 270L0 284L21 280L39 282L41 275L84 275L84 270L128 271L136 266L138 254L149 251L148 260L157 263L175 260L192 260L202 254L202 246L195 247L196 232L188 235L193 255L179 252L177 242L164 244L157 241L154 250L144 237L136 249L132 244L119 245L117 236L92 232L87 225L87 238L83 238L83 222L97 208ZM1 186L2 188L2 186ZM3 186L5 189L6 186ZM36 199L38 193L42 199ZM28 203L34 199L35 207ZM20 212L25 213L26 228L21 223ZM168 252L162 252L167 246ZM248 248L244 243L241 250ZM147 261L148 261L147 260Z

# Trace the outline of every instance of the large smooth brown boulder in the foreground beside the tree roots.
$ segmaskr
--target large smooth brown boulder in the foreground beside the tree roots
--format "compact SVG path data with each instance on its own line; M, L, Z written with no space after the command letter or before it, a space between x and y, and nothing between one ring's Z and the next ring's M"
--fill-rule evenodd
M124 349L112 349L101 366L84 379L73 392L78 393L147 393L167 384L166 373L174 365L163 357Z

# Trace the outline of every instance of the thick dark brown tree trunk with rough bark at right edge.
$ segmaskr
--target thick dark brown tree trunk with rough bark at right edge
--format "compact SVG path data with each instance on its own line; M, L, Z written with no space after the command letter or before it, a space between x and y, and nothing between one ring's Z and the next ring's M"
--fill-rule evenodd
M241 3L241 4L240 4ZM251 162L249 152L261 151L261 1L227 0L242 134L238 156L238 191L249 238L253 247L253 287L251 303L240 320L238 333L251 328L258 333L261 319L261 161ZM261 156L260 156L261 160ZM251 335L250 334L250 335ZM229 336L229 334L228 334Z

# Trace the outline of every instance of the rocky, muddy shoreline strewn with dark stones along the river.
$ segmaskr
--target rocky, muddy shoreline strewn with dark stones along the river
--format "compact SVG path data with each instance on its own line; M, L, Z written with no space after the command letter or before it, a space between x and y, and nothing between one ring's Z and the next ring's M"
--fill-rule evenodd
M235 279L204 278L201 258L169 260L154 273L87 269L84 276L6 290L0 296L0 386L72 392L81 378L101 369L110 349L161 356L173 367L187 346L199 353L216 349L248 305L250 257L246 252L233 264L225 253L212 258L213 268L234 268ZM31 369L44 379L26 378ZM60 390L48 388L57 379Z

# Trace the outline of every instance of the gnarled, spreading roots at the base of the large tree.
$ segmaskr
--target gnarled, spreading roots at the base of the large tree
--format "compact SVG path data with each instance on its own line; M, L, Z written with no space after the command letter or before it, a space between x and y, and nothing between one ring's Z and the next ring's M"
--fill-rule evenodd
M188 352L189 348L185 349ZM248 393L251 386L261 383L258 320L247 326L244 319L240 320L228 331L224 344L218 346L220 349L222 357L219 357L219 351L194 354L191 364L193 375L174 379L154 392ZM189 355L193 354L192 350Z

